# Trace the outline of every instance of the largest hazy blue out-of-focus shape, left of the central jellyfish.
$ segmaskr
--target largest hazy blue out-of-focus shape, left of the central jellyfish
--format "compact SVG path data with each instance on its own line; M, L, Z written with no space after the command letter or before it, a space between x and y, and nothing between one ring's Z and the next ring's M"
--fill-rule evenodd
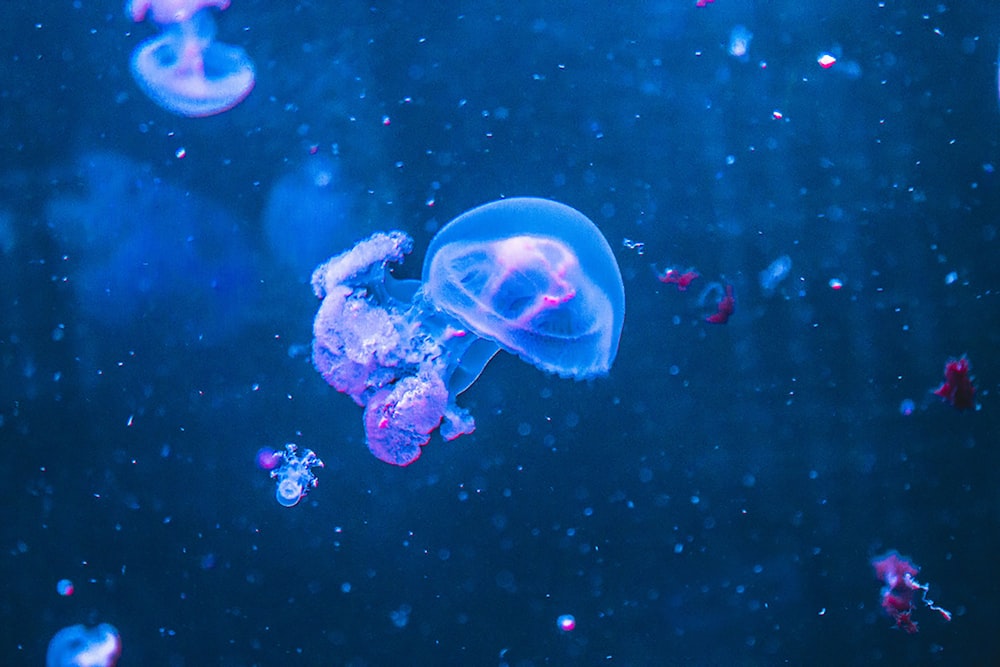
M74 177L45 211L84 319L213 342L247 320L257 267L224 208L114 153L83 155Z

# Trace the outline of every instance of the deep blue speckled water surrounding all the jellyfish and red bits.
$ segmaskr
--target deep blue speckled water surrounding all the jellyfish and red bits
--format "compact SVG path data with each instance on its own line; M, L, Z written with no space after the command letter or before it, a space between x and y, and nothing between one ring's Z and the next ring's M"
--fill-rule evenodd
M117 0L0 7L0 662L99 622L121 665L1000 660L1000 8L607 4L235 0L256 88L205 119L136 87ZM514 195L614 248L615 366L500 355L474 434L386 465L302 353L305 277L382 229L415 277ZM284 442L327 464L293 509L254 465ZM892 548L950 623L892 628Z

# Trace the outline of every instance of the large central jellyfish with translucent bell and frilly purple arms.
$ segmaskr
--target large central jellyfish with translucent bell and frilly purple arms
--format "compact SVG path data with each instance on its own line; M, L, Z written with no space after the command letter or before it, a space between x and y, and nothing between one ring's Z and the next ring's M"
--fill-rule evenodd
M377 458L406 466L435 430L471 433L455 399L500 350L565 378L610 370L625 291L610 246L579 211L536 198L485 204L431 240L421 280L389 276L412 249L403 232L376 233L312 277L322 299L313 363L364 407Z

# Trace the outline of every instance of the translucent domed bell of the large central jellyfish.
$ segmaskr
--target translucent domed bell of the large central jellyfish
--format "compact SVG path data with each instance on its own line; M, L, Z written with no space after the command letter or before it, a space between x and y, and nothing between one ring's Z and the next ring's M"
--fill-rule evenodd
M460 215L431 241L423 280L436 307L538 368L574 378L611 368L621 272L600 230L565 204L504 199Z

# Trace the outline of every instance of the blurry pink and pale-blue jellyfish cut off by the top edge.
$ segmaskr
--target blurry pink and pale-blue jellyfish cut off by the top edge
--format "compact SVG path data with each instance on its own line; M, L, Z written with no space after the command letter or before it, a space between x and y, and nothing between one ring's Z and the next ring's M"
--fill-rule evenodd
M136 48L132 76L164 109L182 116L212 116L242 102L254 86L253 63L238 46L215 40L209 8L229 0L129 0L133 21L147 14L163 32Z

